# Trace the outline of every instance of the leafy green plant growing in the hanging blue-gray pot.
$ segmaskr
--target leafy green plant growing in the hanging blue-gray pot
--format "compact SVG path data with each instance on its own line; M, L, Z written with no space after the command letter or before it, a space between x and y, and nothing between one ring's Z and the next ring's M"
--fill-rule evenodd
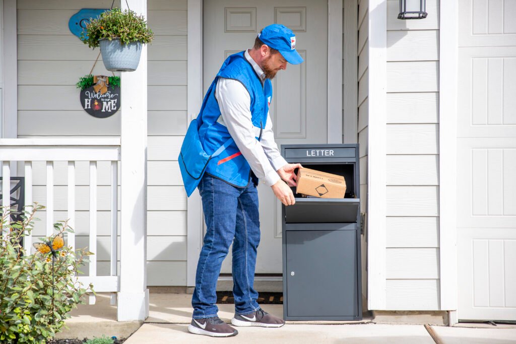
M86 30L80 37L90 48L99 46L103 39L119 39L120 44L130 42L150 43L154 33L147 26L147 21L141 15L131 10L114 8L101 13L99 18L86 24Z

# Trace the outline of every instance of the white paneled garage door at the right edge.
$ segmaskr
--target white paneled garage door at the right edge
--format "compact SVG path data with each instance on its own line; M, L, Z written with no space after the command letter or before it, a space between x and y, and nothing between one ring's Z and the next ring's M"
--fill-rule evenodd
M457 315L514 321L516 3L460 0L458 12Z

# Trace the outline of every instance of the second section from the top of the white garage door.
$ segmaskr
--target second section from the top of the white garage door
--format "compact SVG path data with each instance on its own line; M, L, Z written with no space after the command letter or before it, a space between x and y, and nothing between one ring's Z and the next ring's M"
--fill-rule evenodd
M458 137L516 136L516 46L461 48L458 75Z

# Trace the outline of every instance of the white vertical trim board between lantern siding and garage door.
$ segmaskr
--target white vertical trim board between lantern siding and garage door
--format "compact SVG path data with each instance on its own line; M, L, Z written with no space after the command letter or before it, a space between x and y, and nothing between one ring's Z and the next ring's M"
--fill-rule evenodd
M458 2L440 4L439 252L441 310L457 309ZM456 312L455 312L456 313Z

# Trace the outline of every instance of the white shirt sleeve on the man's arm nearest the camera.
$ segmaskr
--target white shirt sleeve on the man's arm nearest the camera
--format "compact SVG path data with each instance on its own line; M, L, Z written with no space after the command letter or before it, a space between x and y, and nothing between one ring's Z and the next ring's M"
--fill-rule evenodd
M215 89L215 97L219 104L222 119L217 121L228 128L238 149L246 158L252 171L265 184L272 186L280 180L275 168L271 166L262 144L256 140L254 125L251 120L251 97L239 81L219 78ZM269 121L267 121L269 124ZM262 133L265 134L264 129ZM273 139L273 136L272 136ZM270 150L270 142L267 150ZM276 150L278 148L276 147Z

